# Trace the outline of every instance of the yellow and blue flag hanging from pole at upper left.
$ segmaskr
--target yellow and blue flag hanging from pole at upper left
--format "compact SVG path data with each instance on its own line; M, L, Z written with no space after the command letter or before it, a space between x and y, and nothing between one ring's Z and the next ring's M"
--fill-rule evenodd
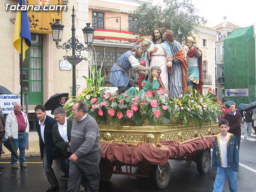
M25 5L25 0L19 0L19 4ZM27 11L17 11L15 20L15 31L13 46L21 54L21 37L23 37L23 60L25 59L25 51L31 46L31 34L30 26L28 22L28 12Z

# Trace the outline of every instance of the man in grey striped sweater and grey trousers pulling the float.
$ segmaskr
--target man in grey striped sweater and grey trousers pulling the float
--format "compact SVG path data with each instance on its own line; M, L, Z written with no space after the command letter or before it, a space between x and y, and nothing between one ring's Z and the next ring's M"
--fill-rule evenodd
M76 101L72 107L68 192L79 192L83 175L87 179L87 191L98 192L100 183L99 127L94 118L87 114L84 101Z

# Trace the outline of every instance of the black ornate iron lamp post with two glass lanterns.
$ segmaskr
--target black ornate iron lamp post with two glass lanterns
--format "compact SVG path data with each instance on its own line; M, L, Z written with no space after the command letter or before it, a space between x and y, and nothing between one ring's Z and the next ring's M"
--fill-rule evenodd
M62 25L60 23L59 19L56 19L56 22L54 24L52 24L51 28L52 28L52 40L56 42L56 48L57 49L65 49L66 52L72 50L72 56L74 56L77 52L81 52L81 51L89 51L90 49L90 44L92 44L93 41L93 34L94 34L94 29L90 26L90 23L86 23L86 27L84 29L82 29L83 33L84 33L84 42L86 44L86 46L84 46L82 43L80 43L78 41L78 39L76 39L75 36L75 9L73 6L72 9L72 37L67 41L64 42L64 44L60 45L59 42L62 40L62 33L63 33L63 28L64 25ZM72 63L72 96L76 96L76 64L78 64L78 62L76 63Z

